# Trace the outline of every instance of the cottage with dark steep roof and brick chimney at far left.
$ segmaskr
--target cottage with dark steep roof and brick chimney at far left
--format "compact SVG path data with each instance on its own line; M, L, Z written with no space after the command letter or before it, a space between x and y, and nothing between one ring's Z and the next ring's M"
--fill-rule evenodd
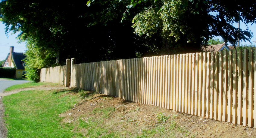
M10 46L10 53L8 53L5 62L2 64L2 67L12 67L16 68L15 78L22 78L22 76L26 73L24 67L26 62L22 61L26 55L24 53L14 52L14 46Z

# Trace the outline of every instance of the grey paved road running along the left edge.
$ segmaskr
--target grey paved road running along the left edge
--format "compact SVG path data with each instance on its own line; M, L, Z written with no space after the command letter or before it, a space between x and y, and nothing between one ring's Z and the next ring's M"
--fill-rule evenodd
M0 95L3 93L3 91L16 84L22 84L29 82L28 80L8 80L8 79L0 79ZM0 138L6 138L6 133L7 133L7 128L5 127L4 124L4 108L3 108L3 103L2 103L2 97L0 96Z

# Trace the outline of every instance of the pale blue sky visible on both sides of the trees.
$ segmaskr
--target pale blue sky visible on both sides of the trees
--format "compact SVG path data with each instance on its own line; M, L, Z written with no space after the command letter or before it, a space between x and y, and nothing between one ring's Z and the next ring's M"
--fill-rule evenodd
M233 24L235 27L237 27L237 23L234 23ZM240 22L240 28L242 30L246 30L246 26L244 23ZM249 25L249 29L251 30L251 32L253 33L253 37L251 39L251 42L252 44L255 44L255 42L253 41L256 41L256 24L253 24L252 26ZM0 61L4 60L7 56L7 54L10 52L10 46L14 46L14 52L25 52L27 50L26 48L26 44L25 43L17 43L17 37L18 33L16 34L9 34L9 37L7 37L5 35L5 25L0 22ZM222 39L221 37L216 37L214 39ZM240 41L240 45L249 45L249 41L247 42L244 42L244 41ZM230 44L229 44L230 45Z

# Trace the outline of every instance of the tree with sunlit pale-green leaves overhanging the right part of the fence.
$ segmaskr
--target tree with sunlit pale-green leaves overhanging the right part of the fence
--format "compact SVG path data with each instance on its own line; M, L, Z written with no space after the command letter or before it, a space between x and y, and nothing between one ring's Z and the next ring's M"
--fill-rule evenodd
M144 6L143 2L150 3L150 6ZM256 19L255 1L131 0L127 6L128 9L138 7L143 8L133 18L135 33L151 36L159 32L164 40L163 48L168 49L164 53L177 45L186 47L192 44L199 48L215 36L221 36L232 45L237 43L237 38L250 41L251 31L241 31L233 23L241 20L248 26ZM127 15L129 13L124 18Z

